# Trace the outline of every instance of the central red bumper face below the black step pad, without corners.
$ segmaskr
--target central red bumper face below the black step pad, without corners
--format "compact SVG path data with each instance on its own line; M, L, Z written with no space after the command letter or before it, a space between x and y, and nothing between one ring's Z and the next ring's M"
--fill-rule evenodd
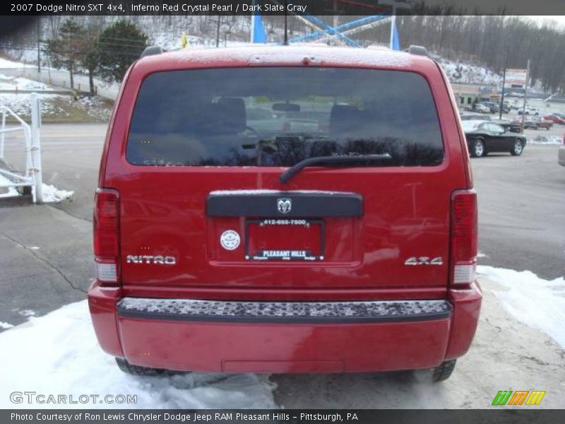
M434 367L444 360L449 319L381 324L218 324L119 317L125 358L172 370L226 372L368 372ZM286 363L268 370L261 361ZM326 365L341 364L327 370ZM233 365L235 367L235 365ZM314 372L309 370L309 372Z

